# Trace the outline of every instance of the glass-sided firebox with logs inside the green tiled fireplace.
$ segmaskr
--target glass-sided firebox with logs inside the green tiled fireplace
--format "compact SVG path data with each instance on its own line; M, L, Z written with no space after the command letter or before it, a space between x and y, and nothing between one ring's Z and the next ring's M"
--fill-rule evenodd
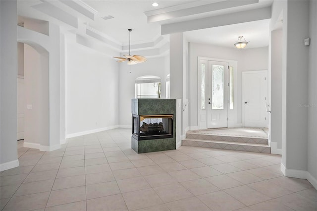
M132 136L136 140L173 138L173 114L133 115Z

